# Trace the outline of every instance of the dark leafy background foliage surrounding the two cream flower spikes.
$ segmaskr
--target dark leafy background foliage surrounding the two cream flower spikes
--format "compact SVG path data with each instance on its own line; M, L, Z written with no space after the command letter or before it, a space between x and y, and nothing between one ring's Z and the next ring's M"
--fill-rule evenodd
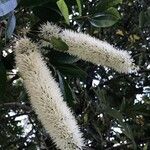
M30 106L13 53L14 39L27 34L38 40L47 21L125 49L140 67L136 74L118 74L42 48L84 133L85 149L150 149L149 0L1 0L0 149L56 149ZM64 43L54 43L63 49Z

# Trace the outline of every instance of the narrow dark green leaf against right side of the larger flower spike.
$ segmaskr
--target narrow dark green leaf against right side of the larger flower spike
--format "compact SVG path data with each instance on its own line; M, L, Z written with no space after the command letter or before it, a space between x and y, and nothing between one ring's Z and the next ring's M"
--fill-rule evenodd
M57 71L57 74L58 74L58 78L59 78L60 89L63 93L64 100L67 102L67 104L70 107L74 107L75 97L73 95L71 87L69 86L69 84L63 78L63 76L60 74L59 71Z

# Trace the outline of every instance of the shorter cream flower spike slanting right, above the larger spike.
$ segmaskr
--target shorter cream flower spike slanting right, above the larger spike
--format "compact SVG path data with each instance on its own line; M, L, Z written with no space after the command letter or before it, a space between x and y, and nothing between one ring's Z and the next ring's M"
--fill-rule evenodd
M61 38L69 49L64 51L70 55L106 67L118 72L130 73L136 71L136 67L128 52L114 48L107 42L101 41L88 34L77 33L67 29L61 29L53 23L43 24L40 28L40 37L51 40L52 37ZM51 45L42 40L43 46Z

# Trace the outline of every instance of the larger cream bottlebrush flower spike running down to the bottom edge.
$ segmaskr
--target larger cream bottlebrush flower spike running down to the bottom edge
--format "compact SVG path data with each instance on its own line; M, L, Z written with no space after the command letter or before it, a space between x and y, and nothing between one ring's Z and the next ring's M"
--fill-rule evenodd
M15 46L15 53L32 107L56 146L61 150L82 149L84 142L75 117L63 101L36 44L22 38Z

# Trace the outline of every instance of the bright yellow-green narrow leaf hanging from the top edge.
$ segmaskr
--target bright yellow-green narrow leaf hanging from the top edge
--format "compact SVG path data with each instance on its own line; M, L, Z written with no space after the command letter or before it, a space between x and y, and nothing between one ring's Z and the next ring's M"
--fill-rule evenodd
M57 6L61 11L62 15L64 16L66 23L69 24L69 11L65 1L64 0L57 1Z

